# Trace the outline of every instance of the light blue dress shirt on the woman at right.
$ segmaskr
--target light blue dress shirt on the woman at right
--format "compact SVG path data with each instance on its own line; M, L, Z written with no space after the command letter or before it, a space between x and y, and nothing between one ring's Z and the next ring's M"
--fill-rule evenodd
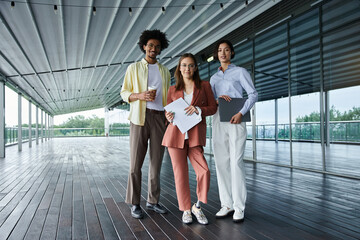
M219 68L217 73L211 76L210 85L216 99L221 95L228 95L231 98L242 98L243 90L245 90L248 99L240 110L242 115L245 115L258 99L258 93L248 71L234 64L230 64L225 72Z

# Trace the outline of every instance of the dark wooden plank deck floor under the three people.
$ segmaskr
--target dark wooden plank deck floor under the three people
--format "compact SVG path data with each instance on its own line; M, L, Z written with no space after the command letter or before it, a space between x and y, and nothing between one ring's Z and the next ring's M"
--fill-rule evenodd
M145 218L133 219L124 203L128 140L53 139L23 151L6 148L0 159L0 240L3 239L359 239L360 181L246 163L245 221L217 220L220 207L214 159L209 225L184 225L177 208L173 172L166 154L161 204L169 213L145 209L147 161L143 170ZM195 175L190 170L195 201Z

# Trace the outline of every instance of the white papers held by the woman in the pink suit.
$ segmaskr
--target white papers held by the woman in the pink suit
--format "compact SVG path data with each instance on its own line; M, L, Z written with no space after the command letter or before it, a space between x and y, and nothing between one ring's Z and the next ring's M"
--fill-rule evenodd
M198 116L196 113L193 113L190 116L185 114L184 109L188 106L189 105L183 98L178 98L164 107L167 112L175 113L173 123L179 128L181 133L189 131L192 127L201 122L201 116Z

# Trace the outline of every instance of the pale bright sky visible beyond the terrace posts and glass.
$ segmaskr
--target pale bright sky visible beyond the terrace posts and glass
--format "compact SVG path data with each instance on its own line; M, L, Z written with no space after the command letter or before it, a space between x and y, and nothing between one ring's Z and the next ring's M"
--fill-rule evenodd
M353 107L360 107L360 85L350 88L343 88L339 90L330 91L330 107L335 106L340 112L348 111ZM288 123L289 119L289 100L288 98L278 100L279 124ZM5 124L6 126L17 125L18 121L18 95L5 87ZM292 97L292 121L296 117L308 115L312 112L319 112L320 101L319 93L305 94L301 96ZM29 122L29 102L22 98L22 123ZM35 123L35 106L32 105L32 122ZM274 100L256 103L256 123L257 124L272 124L274 120ZM83 115L86 118L93 115L99 118L105 117L105 109L95 109L71 114L57 115L54 117L54 124L59 125L70 117L76 115ZM120 109L114 109L109 112L109 123L126 123L128 112ZM40 122L40 111L39 111Z

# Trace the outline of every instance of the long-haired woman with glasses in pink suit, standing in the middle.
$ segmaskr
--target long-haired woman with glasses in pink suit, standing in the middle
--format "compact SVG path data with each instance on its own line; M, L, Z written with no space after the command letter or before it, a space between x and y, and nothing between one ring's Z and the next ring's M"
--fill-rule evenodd
M166 129L162 145L168 147L171 157L179 209L184 212L182 221L187 224L191 223L192 212L199 223L207 224L208 220L200 208L200 201L207 203L207 193L210 185L210 172L203 150L206 143L205 117L215 114L217 106L209 82L200 80L196 59L191 53L181 56L175 71L175 78L176 84L169 88L167 104L178 98L183 98L189 105L184 111L188 115L197 114L202 120L182 134L178 127L172 123L174 119L173 113L166 112L165 116L170 124ZM197 180L196 193L198 201L192 207L188 157L196 173Z

